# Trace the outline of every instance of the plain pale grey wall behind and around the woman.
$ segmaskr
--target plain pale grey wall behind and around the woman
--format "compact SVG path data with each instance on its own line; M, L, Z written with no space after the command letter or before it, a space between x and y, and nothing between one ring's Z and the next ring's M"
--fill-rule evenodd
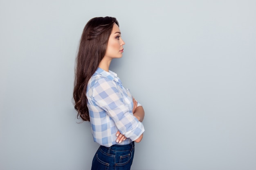
M86 22L113 16L111 70L144 106L134 170L256 170L256 1L0 1L0 169L88 170L72 104Z

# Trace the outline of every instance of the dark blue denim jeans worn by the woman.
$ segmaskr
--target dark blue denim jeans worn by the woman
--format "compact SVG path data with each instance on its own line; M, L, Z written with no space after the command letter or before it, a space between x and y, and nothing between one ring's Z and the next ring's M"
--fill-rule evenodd
M92 160L92 170L130 170L134 142L127 145L100 146Z

